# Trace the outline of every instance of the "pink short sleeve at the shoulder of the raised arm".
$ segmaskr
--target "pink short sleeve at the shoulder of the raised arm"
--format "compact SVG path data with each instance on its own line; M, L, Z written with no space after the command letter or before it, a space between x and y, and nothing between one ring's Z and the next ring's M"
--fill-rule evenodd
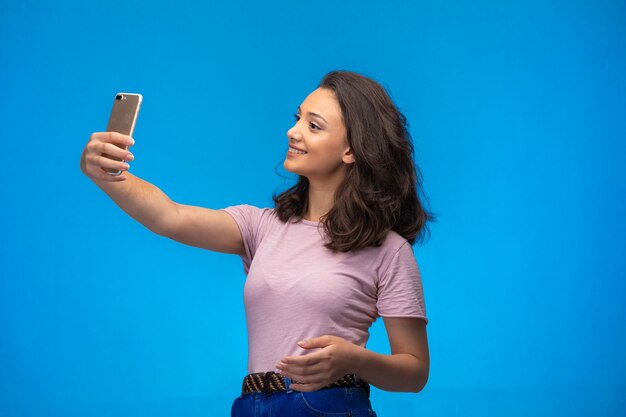
M247 274L250 270L254 254L267 230L267 222L271 209L240 204L220 210L230 214L233 219L235 219L237 226L239 226L245 249L245 254L241 256L241 260L243 261L244 272Z

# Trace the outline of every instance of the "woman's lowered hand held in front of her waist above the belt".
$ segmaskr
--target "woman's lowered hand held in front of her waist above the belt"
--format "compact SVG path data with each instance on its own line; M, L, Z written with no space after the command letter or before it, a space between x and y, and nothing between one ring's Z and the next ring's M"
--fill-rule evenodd
M298 342L298 346L322 349L302 356L284 357L276 365L283 376L298 381L290 385L296 391L317 391L355 372L360 347L341 337L324 335Z

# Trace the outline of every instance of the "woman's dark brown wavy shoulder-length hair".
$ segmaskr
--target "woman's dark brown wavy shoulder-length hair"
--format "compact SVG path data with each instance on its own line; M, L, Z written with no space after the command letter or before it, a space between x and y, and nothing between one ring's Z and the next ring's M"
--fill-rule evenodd
M390 230L413 245L430 231L422 195L422 176L406 117L376 81L350 71L331 71L319 84L334 92L355 162L335 192L334 205L320 221L329 239L324 246L348 252L380 246ZM278 218L302 219L308 209L308 178L272 199Z

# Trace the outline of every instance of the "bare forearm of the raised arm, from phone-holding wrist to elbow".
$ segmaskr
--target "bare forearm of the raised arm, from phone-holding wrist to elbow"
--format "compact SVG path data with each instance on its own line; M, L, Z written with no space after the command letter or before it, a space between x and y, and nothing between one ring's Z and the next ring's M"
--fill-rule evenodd
M129 216L154 233L166 234L169 219L176 212L174 203L155 185L125 172L121 182L93 180Z

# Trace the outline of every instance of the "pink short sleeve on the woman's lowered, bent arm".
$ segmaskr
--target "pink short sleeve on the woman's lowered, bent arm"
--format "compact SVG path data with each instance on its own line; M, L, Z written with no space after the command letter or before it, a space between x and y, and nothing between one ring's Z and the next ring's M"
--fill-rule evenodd
M420 317L428 323L422 279L409 242L403 243L379 278L376 308L381 317Z

